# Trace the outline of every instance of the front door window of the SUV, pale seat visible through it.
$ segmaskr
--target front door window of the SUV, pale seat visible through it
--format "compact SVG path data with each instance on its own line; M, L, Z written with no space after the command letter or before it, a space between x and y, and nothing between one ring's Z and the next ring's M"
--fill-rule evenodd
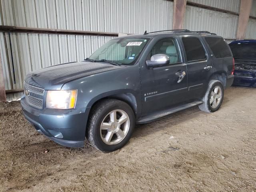
M178 48L174 38L164 38L156 42L150 52L150 58L156 54L165 54L170 58L170 64L180 62Z

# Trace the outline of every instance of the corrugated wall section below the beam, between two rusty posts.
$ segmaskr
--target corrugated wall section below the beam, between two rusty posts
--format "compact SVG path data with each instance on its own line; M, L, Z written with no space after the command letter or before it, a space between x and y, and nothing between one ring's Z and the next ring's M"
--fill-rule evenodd
M214 32L224 38L236 38L238 16L186 6L184 28Z

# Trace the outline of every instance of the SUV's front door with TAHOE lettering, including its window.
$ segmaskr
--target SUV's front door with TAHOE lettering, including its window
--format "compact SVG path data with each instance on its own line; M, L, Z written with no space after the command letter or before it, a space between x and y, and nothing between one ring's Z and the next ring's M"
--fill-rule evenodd
M182 62L177 40L158 40L146 60L150 60L155 54L166 54L170 58L170 64L148 68L145 62L141 63L142 116L177 106L184 101L188 92L187 67ZM184 78L180 78L182 74Z

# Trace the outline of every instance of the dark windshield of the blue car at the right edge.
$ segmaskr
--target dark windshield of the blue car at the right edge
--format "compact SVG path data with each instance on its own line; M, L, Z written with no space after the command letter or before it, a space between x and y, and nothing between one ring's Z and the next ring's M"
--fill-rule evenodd
M255 43L234 43L229 46L234 58L256 58Z

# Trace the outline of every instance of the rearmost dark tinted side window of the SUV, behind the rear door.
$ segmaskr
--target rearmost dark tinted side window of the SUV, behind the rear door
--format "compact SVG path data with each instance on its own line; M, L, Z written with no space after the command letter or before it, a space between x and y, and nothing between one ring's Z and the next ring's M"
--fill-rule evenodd
M210 46L216 58L232 57L232 54L223 38L205 37L207 44Z

